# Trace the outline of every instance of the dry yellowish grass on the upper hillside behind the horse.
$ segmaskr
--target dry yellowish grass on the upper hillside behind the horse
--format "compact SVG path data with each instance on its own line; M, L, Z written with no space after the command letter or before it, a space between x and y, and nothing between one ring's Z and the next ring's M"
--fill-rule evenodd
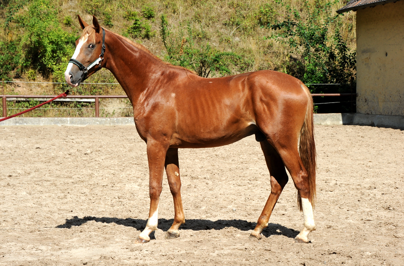
M83 9L92 1L81 0L79 7L74 12L64 9L61 11L61 18L64 16L75 17L76 14L86 14ZM102 1L101 1L102 2ZM310 0L309 4L315 1ZM70 5L68 1L64 2L64 6ZM201 29L205 32L203 40L209 42L215 48L222 51L233 51L245 58L254 61L251 71L259 69L274 69L280 66L285 60L288 53L288 47L280 45L274 40L266 40L265 37L272 34L272 30L260 28L258 25L257 14L259 13L260 6L270 4L276 13L277 18L282 19L286 15L284 7L274 3L274 1L259 1L259 0L231 0L231 1L214 1L207 0L199 2L196 0L174 0L174 1L104 1L106 3L105 9L110 11L112 16L113 27L107 27L114 32L121 34L131 25L130 21L125 20L123 17L125 13L130 11L137 11L139 14L144 6L153 7L155 10L155 18L148 20L151 24L151 29L156 31L156 36L150 39L136 39L146 46L153 54L158 57L164 58L166 51L161 41L159 34L160 31L160 17L165 14L168 19L170 30L173 34L178 34L180 30L185 30L187 22L191 22L196 31ZM289 0L286 3L292 9L300 11L305 14L306 11L301 1ZM342 7L346 1L340 0L337 5L334 5L334 12ZM95 14L101 24L105 20L102 13ZM90 15L84 15L87 22L91 22ZM347 39L350 47L356 47L355 36L355 13L350 12L342 17L341 33ZM239 19L241 25L232 25L232 21ZM74 23L73 28L77 30L78 25Z

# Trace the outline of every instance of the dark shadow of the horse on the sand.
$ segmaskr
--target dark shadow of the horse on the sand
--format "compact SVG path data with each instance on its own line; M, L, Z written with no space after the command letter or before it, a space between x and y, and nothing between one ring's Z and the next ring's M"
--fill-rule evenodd
M72 226L81 226L88 221L95 221L100 223L115 223L117 225L123 225L128 227L133 227L136 230L142 231L146 226L147 220L142 219L119 219L119 218L109 218L109 217L92 217L86 216L84 218L78 218L74 216L72 219L66 219L66 223L63 225L58 225L56 228L71 228ZM166 232L171 225L173 224L173 219L159 219L159 229ZM181 225L181 229L185 230L193 230L193 231L200 231L200 230L222 230L226 227L233 227L237 228L241 231L248 231L255 228L257 223L247 222L244 220L202 220L202 219L189 219L186 220L186 223ZM268 224L268 227L265 228L262 234L265 237L269 237L271 235L283 235L289 238L295 238L299 232L293 229L281 226L279 224ZM150 235L150 237L153 237Z

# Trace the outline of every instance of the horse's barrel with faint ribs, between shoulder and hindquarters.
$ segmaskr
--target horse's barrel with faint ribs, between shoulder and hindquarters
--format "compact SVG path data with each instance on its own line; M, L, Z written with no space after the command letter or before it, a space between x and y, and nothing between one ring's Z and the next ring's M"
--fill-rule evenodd
M220 146L254 134L257 127L245 86L247 76L192 76L183 85L173 87L175 142L181 147Z

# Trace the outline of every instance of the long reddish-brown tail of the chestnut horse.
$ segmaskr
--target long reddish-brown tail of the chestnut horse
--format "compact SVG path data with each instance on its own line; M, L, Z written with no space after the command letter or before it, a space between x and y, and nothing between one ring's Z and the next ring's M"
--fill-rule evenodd
M308 98L306 118L300 129L299 155L309 175L309 200L314 208L316 200L316 144L314 143L314 126L313 126L313 97L308 87L304 84L300 85L306 92ZM302 211L301 196L297 192L297 206Z

